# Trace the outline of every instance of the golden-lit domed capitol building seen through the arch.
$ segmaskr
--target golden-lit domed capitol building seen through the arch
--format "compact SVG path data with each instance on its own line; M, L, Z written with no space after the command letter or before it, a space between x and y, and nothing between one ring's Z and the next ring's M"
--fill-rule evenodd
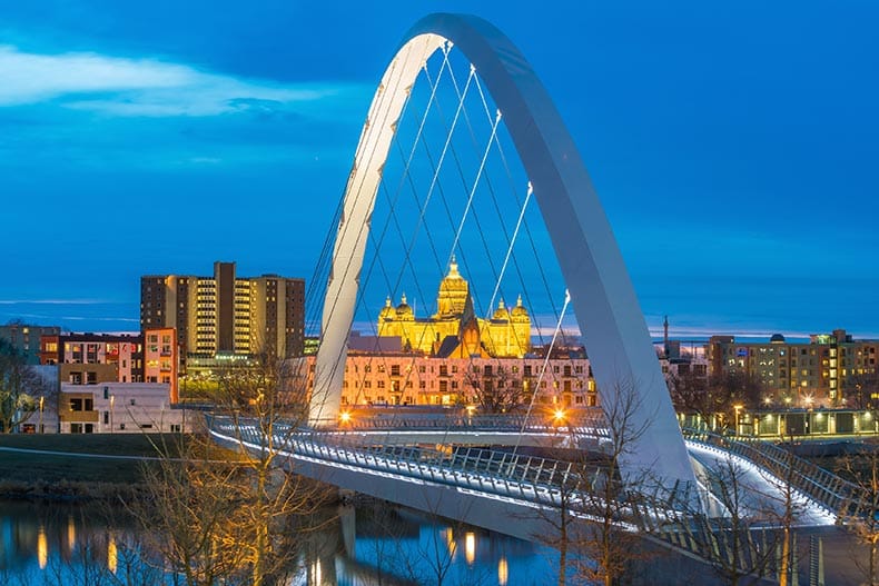
M436 314L418 318L405 294L397 306L388 297L378 314L377 331L379 337L398 337L406 350L434 356L522 358L531 346L531 317L522 298L512 309L501 300L491 319L476 317L470 285L454 258L440 282Z

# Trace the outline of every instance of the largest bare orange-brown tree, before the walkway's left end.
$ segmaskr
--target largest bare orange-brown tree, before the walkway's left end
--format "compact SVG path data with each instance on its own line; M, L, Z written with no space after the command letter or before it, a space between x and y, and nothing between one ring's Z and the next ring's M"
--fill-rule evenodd
M326 495L315 481L290 474L285 449L305 417L304 400L290 391L292 375L270 356L224 373L215 400L229 414L236 451L217 450L203 434L162 449L160 465L147 471L156 507L138 516L146 530L162 536L157 550L188 586L276 582Z

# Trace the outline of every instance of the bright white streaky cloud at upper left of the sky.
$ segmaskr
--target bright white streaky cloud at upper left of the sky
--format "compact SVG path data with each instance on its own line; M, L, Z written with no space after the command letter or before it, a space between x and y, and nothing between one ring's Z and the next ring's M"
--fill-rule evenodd
M217 116L320 102L354 86L280 85L156 59L39 54L0 46L0 107L55 101L117 117ZM359 89L359 88L358 88Z

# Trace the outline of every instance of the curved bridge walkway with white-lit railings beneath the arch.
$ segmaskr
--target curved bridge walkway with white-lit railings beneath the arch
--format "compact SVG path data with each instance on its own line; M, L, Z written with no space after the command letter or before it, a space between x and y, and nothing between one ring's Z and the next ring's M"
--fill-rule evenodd
M393 428L386 421L373 421L373 429L361 424L354 430L315 431L276 424L271 445L273 454L297 474L522 539L546 535L547 519L560 511L563 501L573 515L586 520L603 509L594 490L604 481L599 465L580 466L504 450L504 443L485 440L501 437L501 431L486 425L485 420L453 419L440 429L440 420L413 419L405 424L397 420ZM514 427L515 420L507 419L506 425ZM474 430L480 427L485 429ZM235 449L259 453L268 444L268 436L260 437L259 427L246 419L236 423L214 417L209 428L216 441ZM583 429L599 441L606 436L606 430L597 427ZM506 434L508 446L513 434ZM546 439L564 435L557 428L532 426L522 434L522 444L546 445ZM694 468L710 471L733 461L741 470L739 483L751 495L742 506L762 511L768 519L781 515L786 483L794 489L798 526L832 525L860 506L855 485L781 448L708 433L684 435ZM450 437L468 441L455 445ZM707 515L697 511L687 495L651 493L642 486L639 494L629 489L619 495L613 507L615 522L699 554L703 546L697 535L710 530L712 519L724 515L722 503L700 488ZM767 511L768 503L774 513Z

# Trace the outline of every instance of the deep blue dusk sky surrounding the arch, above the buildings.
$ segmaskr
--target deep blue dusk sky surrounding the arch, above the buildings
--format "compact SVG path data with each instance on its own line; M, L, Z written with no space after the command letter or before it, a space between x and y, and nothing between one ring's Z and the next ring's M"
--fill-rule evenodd
M651 329L879 337L879 3L0 3L0 322L138 329L139 277L309 278L435 11L547 87Z

